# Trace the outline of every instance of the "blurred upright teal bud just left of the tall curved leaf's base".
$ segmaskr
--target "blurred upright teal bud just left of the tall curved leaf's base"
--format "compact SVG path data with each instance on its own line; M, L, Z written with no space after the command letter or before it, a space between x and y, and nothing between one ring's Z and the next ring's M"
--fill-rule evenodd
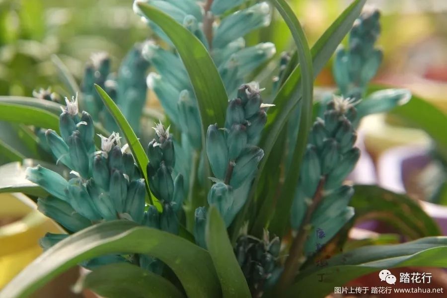
M188 135L192 145L199 149L202 144L200 114L197 103L191 99L188 90L180 92L177 106L182 131Z

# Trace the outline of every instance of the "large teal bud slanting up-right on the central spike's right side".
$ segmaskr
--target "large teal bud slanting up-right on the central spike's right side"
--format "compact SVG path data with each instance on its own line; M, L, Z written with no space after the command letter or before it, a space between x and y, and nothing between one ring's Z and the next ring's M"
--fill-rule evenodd
M236 159L236 165L231 175L230 185L235 189L245 182L258 168L259 161L264 156L264 150L258 147L247 147Z

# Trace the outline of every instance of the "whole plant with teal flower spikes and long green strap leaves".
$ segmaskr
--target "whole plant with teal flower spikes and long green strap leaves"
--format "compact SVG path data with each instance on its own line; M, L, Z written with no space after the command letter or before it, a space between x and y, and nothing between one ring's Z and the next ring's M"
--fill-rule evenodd
M104 55L86 68L81 99L66 99L58 124L44 134L47 150L69 171L26 170L44 190L39 210L67 234L41 239L46 252L4 297L26 297L76 264L92 272L75 290L106 297L324 297L355 277L422 265L420 256L446 249L446 238L432 237L338 253L368 195L397 200L344 182L360 156L360 119L410 97L399 89L367 94L382 56L374 45L378 11L361 13L365 0L353 1L309 49L286 1L272 0L297 50L282 56L268 94L244 82L272 59L274 45L245 47L243 36L269 24L272 6L245 2L135 1L168 49L138 45L115 78ZM339 91L313 104L313 78L351 27L334 61ZM141 82L149 65L156 73L146 82L166 120L145 143ZM114 132L95 137L98 123ZM430 218L408 204L424 223L406 235L436 235Z

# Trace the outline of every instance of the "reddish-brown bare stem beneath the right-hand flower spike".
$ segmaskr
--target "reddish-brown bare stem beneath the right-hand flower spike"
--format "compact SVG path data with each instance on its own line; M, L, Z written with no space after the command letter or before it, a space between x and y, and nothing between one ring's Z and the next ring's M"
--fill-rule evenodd
M281 275L281 278L276 287L277 294L279 293L279 291L284 290L285 287L289 286L292 283L296 273L298 272L299 266L304 261L303 257L304 243L310 231L309 225L310 220L312 219L312 214L315 211L318 204L321 202L321 199L323 197L322 194L323 194L324 182L325 177L322 177L320 179L320 182L318 183L315 194L313 195L312 203L307 208L304 220L302 221L302 224L298 229L298 234L292 242L292 246L290 248L290 254L287 257L286 263L284 265L283 274Z

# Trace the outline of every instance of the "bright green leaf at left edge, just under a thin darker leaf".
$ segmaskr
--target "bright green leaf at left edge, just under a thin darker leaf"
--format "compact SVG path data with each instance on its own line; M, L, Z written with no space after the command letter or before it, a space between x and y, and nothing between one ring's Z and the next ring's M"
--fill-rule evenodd
M23 123L59 132L59 117L31 106L0 102L0 120Z

